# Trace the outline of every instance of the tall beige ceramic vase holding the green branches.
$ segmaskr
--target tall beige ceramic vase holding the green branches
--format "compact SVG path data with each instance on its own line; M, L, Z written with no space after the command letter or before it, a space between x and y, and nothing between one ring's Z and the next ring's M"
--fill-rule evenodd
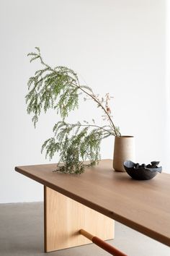
M113 168L115 171L125 171L124 161L135 161L135 139L133 136L115 137Z

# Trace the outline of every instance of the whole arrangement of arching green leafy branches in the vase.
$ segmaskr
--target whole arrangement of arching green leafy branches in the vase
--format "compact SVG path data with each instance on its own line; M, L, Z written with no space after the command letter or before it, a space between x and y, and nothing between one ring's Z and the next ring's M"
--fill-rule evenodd
M56 171L69 174L81 174L86 166L94 166L100 159L101 141L109 136L121 136L119 127L112 121L109 108L109 93L104 98L99 98L87 85L81 85L79 78L68 67L50 67L40 54L40 48L27 54L30 62L38 59L42 69L37 70L28 80L29 93L26 95L27 113L33 114L32 121L36 126L41 111L49 108L55 109L61 116L53 127L53 137L50 137L42 145L42 151L46 150L46 157L53 158L55 153L60 154L60 161ZM69 113L79 108L79 96L84 94L84 101L91 99L101 108L102 119L107 124L100 127L94 119L91 124L88 121L70 124L66 121ZM84 161L88 160L88 163Z

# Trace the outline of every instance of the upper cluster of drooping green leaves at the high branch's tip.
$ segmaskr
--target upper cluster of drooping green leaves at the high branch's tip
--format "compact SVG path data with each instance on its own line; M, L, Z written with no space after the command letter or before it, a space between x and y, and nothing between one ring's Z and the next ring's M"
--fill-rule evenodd
M27 113L33 113L32 121L36 125L42 109L56 108L65 119L68 113L78 108L79 80L75 72L67 67L50 66L42 61L40 48L37 53L30 53L30 61L40 59L43 69L37 70L34 77L28 80L30 92L26 95Z

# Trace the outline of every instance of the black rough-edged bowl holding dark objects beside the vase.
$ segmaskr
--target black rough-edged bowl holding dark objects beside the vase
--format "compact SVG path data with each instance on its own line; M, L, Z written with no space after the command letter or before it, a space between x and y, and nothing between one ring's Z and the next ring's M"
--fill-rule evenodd
M159 162L151 162L151 163L159 163ZM153 167L151 164L151 168L147 166L139 166L138 163L133 163L132 161L125 161L123 163L125 171L129 174L133 179L145 180L145 179L153 179L156 174L161 173L162 167L155 166Z

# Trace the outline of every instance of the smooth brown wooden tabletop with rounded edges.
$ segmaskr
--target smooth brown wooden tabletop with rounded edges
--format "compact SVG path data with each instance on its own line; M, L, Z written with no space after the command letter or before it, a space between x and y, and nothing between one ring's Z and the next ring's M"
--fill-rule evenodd
M170 246L170 175L137 181L102 160L84 174L53 172L56 164L18 166L21 174Z

